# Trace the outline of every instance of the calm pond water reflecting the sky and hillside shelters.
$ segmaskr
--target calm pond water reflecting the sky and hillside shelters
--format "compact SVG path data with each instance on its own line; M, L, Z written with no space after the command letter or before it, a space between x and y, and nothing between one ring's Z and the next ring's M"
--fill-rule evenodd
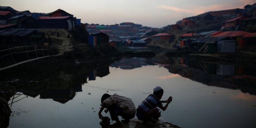
M155 86L164 89L162 100L173 97L162 112L172 124L184 128L256 126L253 68L249 73L248 67L243 68L244 74L239 75L237 64L212 66L177 57L159 58L123 58L103 65L81 64L51 71L49 66L48 73L40 74L40 78L35 75L43 71L16 76L12 82L26 79L28 85L9 101L12 114L8 128L97 128L104 93L129 97L137 107ZM196 68L199 65L201 68Z

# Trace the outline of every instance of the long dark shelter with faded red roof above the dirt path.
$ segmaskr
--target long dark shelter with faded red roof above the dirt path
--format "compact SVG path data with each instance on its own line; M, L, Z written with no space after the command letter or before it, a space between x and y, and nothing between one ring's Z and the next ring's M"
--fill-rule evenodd
M40 16L37 19L37 28L75 28L75 23L70 16L49 17Z

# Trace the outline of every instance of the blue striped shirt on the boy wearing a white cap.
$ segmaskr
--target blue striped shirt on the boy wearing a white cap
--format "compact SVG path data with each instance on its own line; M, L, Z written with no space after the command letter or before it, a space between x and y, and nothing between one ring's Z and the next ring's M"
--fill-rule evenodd
M143 100L139 107L137 108L137 112L144 114L148 110L156 107L163 106L162 102L157 98L155 94L150 94L145 100Z

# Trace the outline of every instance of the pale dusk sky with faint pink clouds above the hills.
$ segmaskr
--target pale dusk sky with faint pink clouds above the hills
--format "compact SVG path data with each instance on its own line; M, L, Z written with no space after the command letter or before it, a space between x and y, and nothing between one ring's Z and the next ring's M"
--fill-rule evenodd
M62 9L81 19L81 23L133 22L162 28L204 12L243 9L254 3L255 0L1 0L0 5L40 13Z

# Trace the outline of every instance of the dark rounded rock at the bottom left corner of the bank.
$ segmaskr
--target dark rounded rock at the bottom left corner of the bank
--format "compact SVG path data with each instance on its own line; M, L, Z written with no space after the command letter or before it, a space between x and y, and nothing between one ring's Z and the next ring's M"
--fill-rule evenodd
M11 116L11 109L4 98L0 98L0 128L7 128Z

